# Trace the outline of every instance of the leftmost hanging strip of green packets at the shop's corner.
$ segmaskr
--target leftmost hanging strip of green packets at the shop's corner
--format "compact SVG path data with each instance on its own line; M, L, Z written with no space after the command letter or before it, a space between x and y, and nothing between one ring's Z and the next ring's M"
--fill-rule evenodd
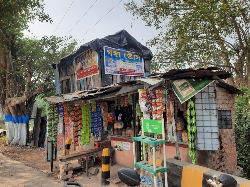
M49 103L47 105L47 126L48 137L53 137L53 144L57 144L57 132L59 123L59 112L57 104Z

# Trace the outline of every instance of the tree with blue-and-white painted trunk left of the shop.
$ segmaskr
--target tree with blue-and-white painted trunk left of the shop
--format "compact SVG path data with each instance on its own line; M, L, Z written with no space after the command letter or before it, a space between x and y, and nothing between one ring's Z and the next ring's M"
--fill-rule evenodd
M26 144L26 125L37 95L54 90L52 63L74 50L68 38L23 38L29 21L51 19L40 0L0 0L0 105L7 138Z

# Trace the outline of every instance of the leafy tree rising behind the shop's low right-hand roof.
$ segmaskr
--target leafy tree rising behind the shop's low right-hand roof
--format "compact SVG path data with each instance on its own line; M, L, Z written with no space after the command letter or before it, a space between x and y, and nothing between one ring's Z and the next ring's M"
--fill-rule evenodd
M219 66L239 87L249 84L249 0L130 0L125 7L160 30L154 68Z

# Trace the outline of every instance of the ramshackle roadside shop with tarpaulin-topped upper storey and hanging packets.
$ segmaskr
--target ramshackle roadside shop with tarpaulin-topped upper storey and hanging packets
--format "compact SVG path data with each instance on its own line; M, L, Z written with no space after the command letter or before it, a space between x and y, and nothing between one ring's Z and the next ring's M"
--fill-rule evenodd
M67 139L70 152L111 146L115 163L132 168L132 138L141 135L141 119L164 120L167 143L160 149L166 146L168 158L235 170L235 146L223 149L235 145L234 100L241 93L225 83L231 74L213 67L150 76L151 58L149 49L121 31L54 64L57 95L47 98L48 136L58 151L65 153ZM231 142L223 139L227 134ZM136 152L143 160L140 143ZM215 168L218 162L228 170Z

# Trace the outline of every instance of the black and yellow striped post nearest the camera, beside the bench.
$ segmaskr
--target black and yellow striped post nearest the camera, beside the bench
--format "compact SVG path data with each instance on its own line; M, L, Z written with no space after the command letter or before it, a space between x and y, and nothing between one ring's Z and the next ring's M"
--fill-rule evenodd
M109 185L108 178L110 178L110 149L104 148L102 150L102 186Z

